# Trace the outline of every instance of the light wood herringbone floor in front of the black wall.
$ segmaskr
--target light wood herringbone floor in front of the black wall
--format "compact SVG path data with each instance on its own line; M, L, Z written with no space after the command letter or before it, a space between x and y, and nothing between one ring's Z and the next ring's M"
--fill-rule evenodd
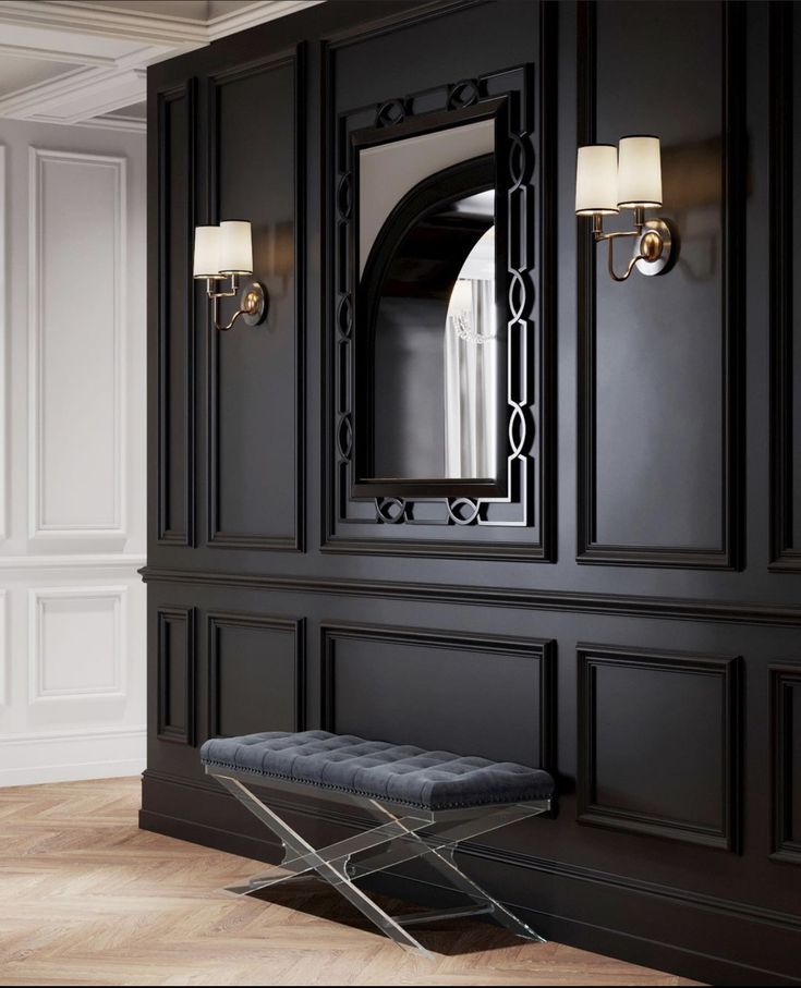
M138 779L0 790L0 985L690 985L476 920L425 961L338 893L221 888L260 864L137 829Z

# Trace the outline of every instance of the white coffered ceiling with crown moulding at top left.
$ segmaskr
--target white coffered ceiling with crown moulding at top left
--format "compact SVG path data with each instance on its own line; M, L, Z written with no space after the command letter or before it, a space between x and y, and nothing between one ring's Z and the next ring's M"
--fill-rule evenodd
M323 0L0 0L0 118L145 130L146 69Z

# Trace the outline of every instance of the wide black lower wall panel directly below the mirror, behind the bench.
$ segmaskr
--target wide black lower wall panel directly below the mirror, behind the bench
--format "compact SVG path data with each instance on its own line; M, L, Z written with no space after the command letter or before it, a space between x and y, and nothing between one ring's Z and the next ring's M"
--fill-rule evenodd
M548 767L556 643L371 625L321 635L326 730Z

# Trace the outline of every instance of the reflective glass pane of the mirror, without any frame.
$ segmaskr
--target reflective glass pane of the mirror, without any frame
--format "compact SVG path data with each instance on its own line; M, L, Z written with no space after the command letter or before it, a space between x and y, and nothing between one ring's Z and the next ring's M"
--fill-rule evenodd
M359 212L356 368L369 378L362 476L495 480L506 324L501 332L493 121L363 151L362 195L386 147L390 174Z

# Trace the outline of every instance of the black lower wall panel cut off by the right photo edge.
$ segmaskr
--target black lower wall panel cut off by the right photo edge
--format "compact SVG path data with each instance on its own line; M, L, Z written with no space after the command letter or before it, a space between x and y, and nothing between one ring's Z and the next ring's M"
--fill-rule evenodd
M801 690L801 664L768 667L770 678L770 779L772 779L772 842L774 861L801 865L801 843L792 839L792 791L801 785L799 766L792 764L792 732L801 731L793 723L792 691ZM794 777L794 778L793 778Z

